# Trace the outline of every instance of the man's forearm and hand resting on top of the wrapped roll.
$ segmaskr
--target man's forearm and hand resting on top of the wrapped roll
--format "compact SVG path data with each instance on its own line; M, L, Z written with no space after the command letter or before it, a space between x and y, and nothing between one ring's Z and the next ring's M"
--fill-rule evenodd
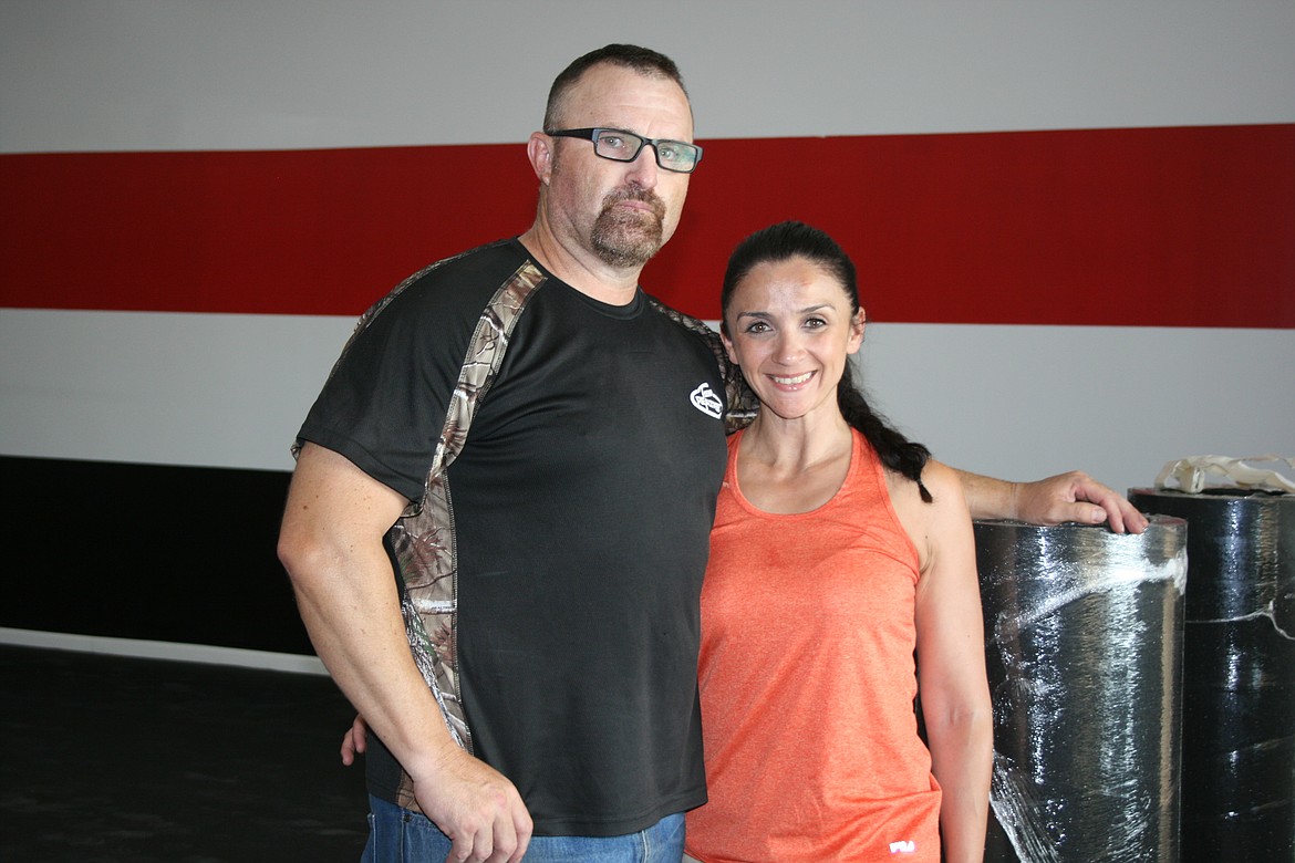
M1115 533L1142 533L1146 516L1081 471L1033 483L1009 483L958 471L973 519L1014 519L1031 524L1101 524Z

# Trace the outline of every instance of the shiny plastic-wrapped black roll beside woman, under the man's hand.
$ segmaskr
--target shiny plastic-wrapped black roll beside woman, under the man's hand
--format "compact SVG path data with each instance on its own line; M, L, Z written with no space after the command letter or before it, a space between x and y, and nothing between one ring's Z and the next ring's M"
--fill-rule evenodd
M1186 524L976 521L993 697L985 860L1178 859Z

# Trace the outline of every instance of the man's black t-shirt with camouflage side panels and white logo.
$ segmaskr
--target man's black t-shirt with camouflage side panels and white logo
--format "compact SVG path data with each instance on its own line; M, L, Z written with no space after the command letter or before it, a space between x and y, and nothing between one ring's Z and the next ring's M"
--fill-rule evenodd
M483 309L518 281L504 330ZM620 307L580 294L517 241L379 305L300 439L414 505L443 498L392 560L416 659L444 666L425 678L457 682L438 697L461 703L464 744L517 784L539 835L628 833L702 803L698 596L725 461L707 342L641 292ZM492 377L465 384L465 362L491 352ZM473 400L466 444L429 483L440 439L461 437L456 387ZM418 562L438 555L453 559L452 607L422 598ZM369 779L409 805L381 745Z

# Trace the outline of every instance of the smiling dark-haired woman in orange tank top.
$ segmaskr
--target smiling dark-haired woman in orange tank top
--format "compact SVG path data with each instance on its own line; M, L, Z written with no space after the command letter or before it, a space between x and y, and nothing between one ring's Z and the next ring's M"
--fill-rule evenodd
M710 802L688 815L688 854L938 863L943 836L945 860L980 860L992 718L958 479L852 386L865 318L828 234L752 234L721 299L760 411L729 440L711 533Z

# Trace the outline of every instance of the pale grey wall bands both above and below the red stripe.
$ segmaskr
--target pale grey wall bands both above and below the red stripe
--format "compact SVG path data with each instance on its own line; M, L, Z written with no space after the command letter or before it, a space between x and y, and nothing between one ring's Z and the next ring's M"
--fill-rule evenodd
M680 62L703 138L1295 122L1289 0L0 0L0 153L521 142L607 41ZM350 325L0 309L0 453L286 468ZM865 362L1000 476L1295 454L1291 330L879 322Z

